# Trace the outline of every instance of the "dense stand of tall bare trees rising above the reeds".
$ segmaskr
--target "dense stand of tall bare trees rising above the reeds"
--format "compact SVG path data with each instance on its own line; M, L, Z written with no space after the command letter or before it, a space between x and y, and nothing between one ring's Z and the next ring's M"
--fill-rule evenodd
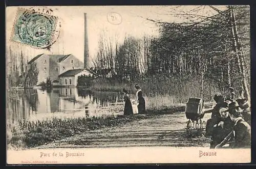
M111 69L119 81L164 76L198 77L203 86L211 82L220 91L232 86L250 97L250 8L227 6L206 17L187 14L185 23L159 22L159 37L127 36L113 44L101 35L94 66ZM198 18L198 19L195 19ZM166 84L167 85L167 84Z

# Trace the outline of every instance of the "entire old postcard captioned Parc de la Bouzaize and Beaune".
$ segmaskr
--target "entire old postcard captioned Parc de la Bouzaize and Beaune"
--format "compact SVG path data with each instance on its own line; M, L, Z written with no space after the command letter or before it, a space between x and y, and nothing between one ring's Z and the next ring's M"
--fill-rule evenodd
M249 16L8 6L7 164L250 163Z

